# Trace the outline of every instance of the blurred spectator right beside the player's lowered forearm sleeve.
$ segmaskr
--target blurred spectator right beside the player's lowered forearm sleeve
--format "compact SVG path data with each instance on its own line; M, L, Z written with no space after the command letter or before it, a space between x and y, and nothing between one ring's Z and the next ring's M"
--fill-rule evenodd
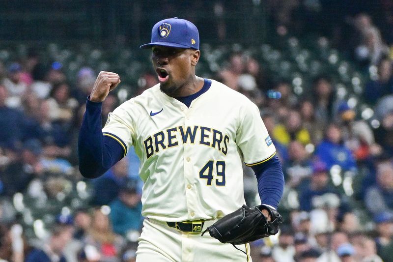
M312 174L309 154L300 142L292 141L288 145L288 161L283 164L286 184L298 188L303 179Z

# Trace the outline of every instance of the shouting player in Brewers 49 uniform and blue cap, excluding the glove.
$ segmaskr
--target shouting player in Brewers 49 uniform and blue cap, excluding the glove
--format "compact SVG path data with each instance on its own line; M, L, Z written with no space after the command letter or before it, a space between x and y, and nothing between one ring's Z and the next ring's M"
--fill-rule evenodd
M80 130L82 175L104 174L134 146L146 217L137 262L251 261L249 244L237 246L242 253L201 232L245 204L243 162L255 171L261 202L279 204L281 163L258 108L196 76L199 34L191 22L158 22L141 48L151 49L160 83L116 108L101 129L102 101L120 77L99 73Z

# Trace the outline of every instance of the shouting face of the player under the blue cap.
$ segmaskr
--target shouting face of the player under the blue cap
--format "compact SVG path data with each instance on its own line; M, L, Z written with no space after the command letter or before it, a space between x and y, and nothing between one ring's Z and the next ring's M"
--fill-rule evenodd
M154 46L152 51L151 59L161 91L169 96L181 96L181 87L195 77L195 54L199 54L199 51L164 46Z

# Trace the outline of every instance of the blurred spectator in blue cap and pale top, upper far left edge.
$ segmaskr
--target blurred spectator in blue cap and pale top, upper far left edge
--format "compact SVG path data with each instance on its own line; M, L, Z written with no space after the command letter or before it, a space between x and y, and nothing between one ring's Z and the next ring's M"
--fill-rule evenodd
M19 63L12 63L8 67L7 78L3 79L2 85L7 88L9 97L7 105L12 108L21 106L21 98L27 91L26 83L22 82L22 66Z

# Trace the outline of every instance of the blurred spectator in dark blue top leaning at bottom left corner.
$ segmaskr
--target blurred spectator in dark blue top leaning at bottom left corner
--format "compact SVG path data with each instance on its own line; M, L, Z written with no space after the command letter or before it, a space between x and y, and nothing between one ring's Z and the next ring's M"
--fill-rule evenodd
M41 248L33 248L26 256L25 262L66 262L63 249L72 238L72 227L55 225L51 237Z

